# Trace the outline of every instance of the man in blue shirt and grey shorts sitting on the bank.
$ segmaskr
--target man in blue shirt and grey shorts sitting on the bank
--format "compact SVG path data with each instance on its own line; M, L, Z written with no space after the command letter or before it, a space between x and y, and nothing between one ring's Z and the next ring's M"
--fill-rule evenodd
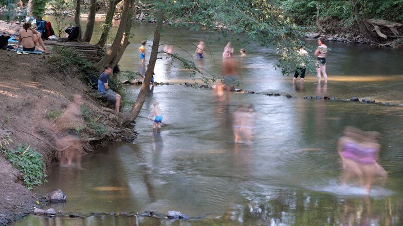
M115 111L119 112L120 108L120 95L111 90L108 86L108 75L112 74L112 66L105 65L105 71L99 76L98 79L98 92L107 100L115 101Z

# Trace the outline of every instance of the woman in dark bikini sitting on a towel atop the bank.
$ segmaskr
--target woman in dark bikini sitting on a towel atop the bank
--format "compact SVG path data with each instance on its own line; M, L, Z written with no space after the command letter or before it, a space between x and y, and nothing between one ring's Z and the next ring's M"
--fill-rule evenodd
M43 53L50 54L50 51L46 49L45 44L41 38L41 33L31 28L31 23L24 23L23 29L18 33L18 43L17 48L20 44L23 44L24 51L40 51ZM41 45L43 47L40 48Z

